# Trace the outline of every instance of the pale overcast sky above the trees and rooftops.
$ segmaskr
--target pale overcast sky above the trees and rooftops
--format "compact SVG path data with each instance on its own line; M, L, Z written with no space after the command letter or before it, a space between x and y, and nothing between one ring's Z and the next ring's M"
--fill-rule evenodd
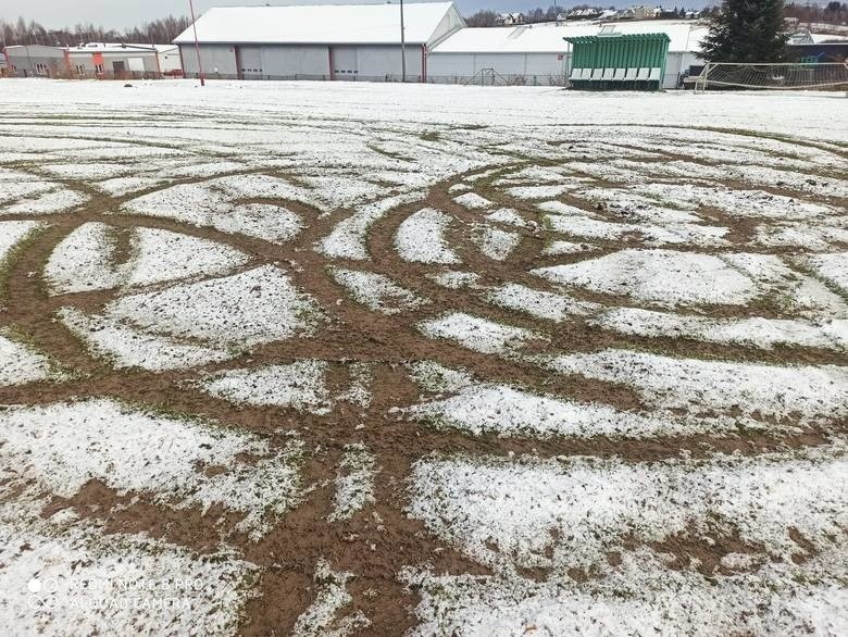
M357 0L350 0L356 2ZM397 0L394 0L397 2ZM683 5L684 0L671 0L665 4ZM719 0L716 0L718 2ZM559 1L557 5L569 7L587 2L587 0ZM238 4L342 4L344 0L309 0L303 2L258 1L258 0L195 0L195 9L201 13L210 7L232 7ZM629 5L636 2L614 0L598 0L601 5ZM686 0L687 7L700 7L703 0ZM536 7L549 7L552 0L457 0L457 5L464 15L470 15L478 9L496 11L523 11ZM72 26L77 23L93 23L107 28L124 28L144 22L163 17L169 14L188 15L188 0L0 0L0 18L17 20L23 15L27 21L35 20L47 27Z

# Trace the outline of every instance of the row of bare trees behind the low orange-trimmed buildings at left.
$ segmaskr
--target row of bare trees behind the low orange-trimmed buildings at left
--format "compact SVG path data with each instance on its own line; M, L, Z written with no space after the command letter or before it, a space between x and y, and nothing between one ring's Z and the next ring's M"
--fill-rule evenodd
M82 42L165 45L190 25L191 21L188 17L169 15L124 32L104 29L102 26L93 24L77 24L68 28L48 29L35 21L26 22L20 17L17 22L0 20L0 45L46 45L51 47L73 47Z

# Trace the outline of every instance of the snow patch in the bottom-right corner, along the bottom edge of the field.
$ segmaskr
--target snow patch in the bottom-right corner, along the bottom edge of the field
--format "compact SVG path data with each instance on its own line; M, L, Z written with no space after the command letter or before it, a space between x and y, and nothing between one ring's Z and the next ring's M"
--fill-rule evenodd
M834 558L733 577L670 570L648 549L586 583L401 573L421 596L412 637L428 635L832 635L848 624Z

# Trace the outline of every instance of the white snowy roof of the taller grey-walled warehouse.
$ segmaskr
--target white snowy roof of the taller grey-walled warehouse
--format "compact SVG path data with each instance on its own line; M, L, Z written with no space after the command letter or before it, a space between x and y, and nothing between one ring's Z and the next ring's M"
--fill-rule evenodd
M407 42L426 43L453 2L403 4ZM197 21L201 42L397 43L399 4L220 7ZM194 42L191 27L174 43Z

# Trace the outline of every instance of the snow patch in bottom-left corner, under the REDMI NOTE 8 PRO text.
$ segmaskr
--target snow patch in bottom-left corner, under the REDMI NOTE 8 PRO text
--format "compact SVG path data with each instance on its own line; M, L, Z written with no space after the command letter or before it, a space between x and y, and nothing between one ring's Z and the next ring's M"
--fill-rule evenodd
M8 488L18 486L20 477ZM140 534L107 535L93 523L67 523L61 514L43 520L40 511L50 502L33 495L37 486L15 492L13 502L7 500L11 490L3 489L0 623L7 629L20 635L237 629L254 582L251 564L226 552L197 555Z

